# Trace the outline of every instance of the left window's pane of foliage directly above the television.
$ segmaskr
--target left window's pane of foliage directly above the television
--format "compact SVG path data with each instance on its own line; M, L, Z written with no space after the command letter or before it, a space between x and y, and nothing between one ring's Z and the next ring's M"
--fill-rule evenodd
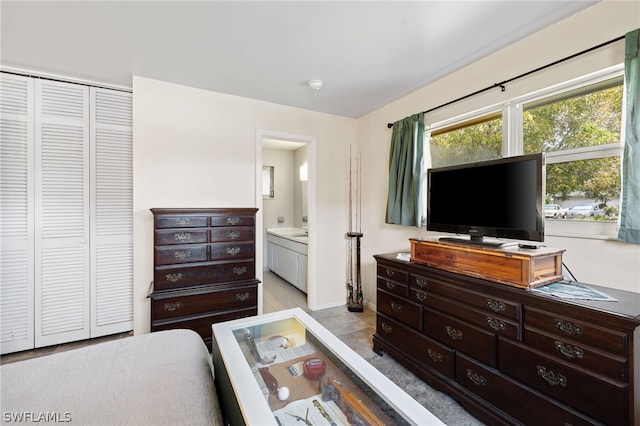
M502 153L502 118L431 136L432 167L500 158Z

